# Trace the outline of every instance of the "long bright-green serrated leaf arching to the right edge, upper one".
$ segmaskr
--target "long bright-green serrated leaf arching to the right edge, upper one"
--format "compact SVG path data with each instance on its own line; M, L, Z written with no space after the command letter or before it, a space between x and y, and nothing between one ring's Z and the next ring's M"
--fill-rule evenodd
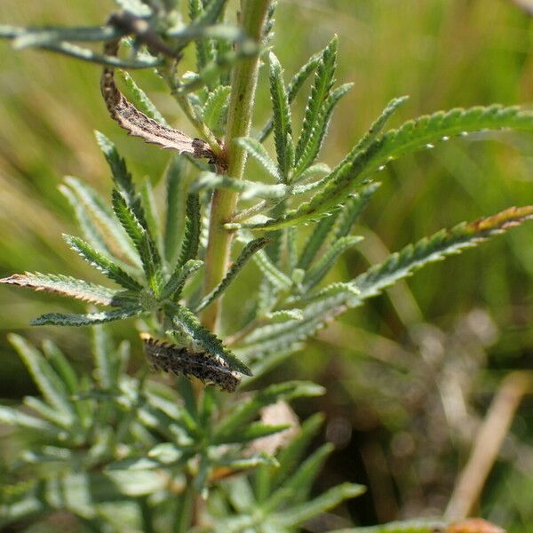
M339 209L346 197L357 187L361 187L371 174L382 168L389 160L433 147L434 143L447 140L454 135L502 128L533 131L533 113L521 111L517 107L496 105L452 109L447 113L421 116L416 121L404 123L398 130L386 132L366 150L354 155L353 160L339 164L326 178L322 190L309 202L300 203L297 209L288 211L277 219L255 224L227 224L226 227L274 230L320 219L328 212Z

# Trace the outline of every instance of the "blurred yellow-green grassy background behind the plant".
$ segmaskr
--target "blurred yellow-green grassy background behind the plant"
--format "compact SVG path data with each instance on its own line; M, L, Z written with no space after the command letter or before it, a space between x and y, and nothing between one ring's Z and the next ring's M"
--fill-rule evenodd
M3 0L0 23L99 24L113 5ZM533 102L531 22L507 0L281 0L276 19L274 46L287 78L338 33L338 80L354 82L354 89L338 107L322 150L330 164L394 96L410 100L393 125L449 107ZM135 77L176 126L190 131L155 76ZM268 114L265 84L258 99L260 125ZM298 99L297 119L304 105ZM95 279L60 239L76 233L57 190L62 177L73 174L108 192L94 129L115 140L137 177L156 181L169 155L127 138L108 119L98 67L46 52L13 52L4 42L0 117L0 275L37 270ZM383 186L364 216L362 253L350 252L331 277L353 277L387 250L441 227L533 203L532 140L507 132L473 135L394 162L381 172ZM354 520L439 513L499 381L509 370L531 370L532 232L526 225L426 267L346 314L279 371L279 378L329 387L325 398L299 409L324 410L326 436L338 446L322 484L370 487L350 506ZM9 331L35 341L53 337L84 365L87 331L26 327L36 314L68 305L0 290L4 399L32 390L5 341ZM131 336L131 330L122 325L115 334ZM532 405L530 398L522 404L481 501L480 513L513 533L533 531Z

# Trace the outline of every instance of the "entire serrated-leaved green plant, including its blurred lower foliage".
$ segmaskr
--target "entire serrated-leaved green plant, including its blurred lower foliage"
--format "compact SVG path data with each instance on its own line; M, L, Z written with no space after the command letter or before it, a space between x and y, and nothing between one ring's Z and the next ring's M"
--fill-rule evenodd
M67 510L93 530L125 527L117 519L123 513L128 528L147 531L186 531L200 523L215 532L294 531L343 500L361 495L364 488L344 483L311 497L314 481L333 450L325 443L303 458L322 416L315 415L298 428L295 419L280 416L273 423L266 420L266 413L276 405L314 398L325 390L299 380L254 389L259 378L347 309L361 306L420 267L533 218L533 206L510 208L423 238L347 282L324 282L338 259L362 240L352 232L379 185L372 182L375 173L395 158L469 132L533 131L533 114L502 106L452 109L383 132L388 118L405 100L393 99L331 170L315 162L333 110L352 87L335 88L337 37L287 85L282 65L270 52L272 119L257 138L250 136L250 124L238 128L241 136L232 138L234 130L227 128L227 121L235 116L228 118L229 103L243 96L237 91L243 83L238 73L248 72L250 79L245 82L253 86L252 97L256 81L253 68L238 70L235 65L242 65L239 61L244 59L246 65L259 68L259 48L272 34L274 4L243 3L251 10L244 10L243 25L250 26L243 28L224 24L225 0L189 0L188 25L178 22L179 12L171 1L121 0L118 4L125 11L102 28L0 27L0 36L12 39L18 48L44 48L112 67L156 67L206 139L172 130L147 94L123 73L139 108L126 107L137 128L130 131L150 140L154 131L146 128L162 125L163 132L157 132L163 137L175 134L193 147L195 142L210 147L207 152L188 152L189 161L208 162L194 162L202 169L198 173L191 171L185 157L172 157L163 178L166 219L162 227L152 181L145 179L138 192L115 144L97 132L112 174L112 209L91 187L66 179L60 190L75 211L84 238L66 235L65 240L121 289L62 274L12 274L0 280L111 307L78 314L49 313L32 322L93 326L92 377L79 374L52 343L44 345L42 354L22 338L10 338L42 399L25 400L30 414L0 407L0 421L27 432L30 442L9 472L0 524ZM264 20L258 21L261 16ZM254 38L249 31L252 24L259 29ZM128 60L72 44L120 39L131 49ZM180 76L179 60L189 44L195 45L196 72ZM228 69L233 69L231 85ZM291 104L313 73L295 136ZM123 96L116 91L116 108L109 108L115 119L124 113ZM251 115L251 109L245 111ZM227 137L218 139L226 130ZM270 131L274 131L275 156L262 144ZM228 175L239 150L243 161L248 155L259 163L270 182ZM220 212L224 216L218 218ZM303 241L301 227L314 222ZM254 231L267 233L258 238ZM230 251L232 255L235 251L229 243L234 234L244 246L231 263ZM226 251L220 242L227 243ZM254 272L244 269L251 259ZM201 269L204 274L199 274ZM212 272L219 272L219 279L205 283L203 278L209 279ZM245 282L249 274L256 276L252 285ZM230 286L242 289L242 315L236 318L219 314L221 298ZM206 318L210 314L214 319ZM152 338L147 346L160 347L155 354L160 360L146 352L150 362L181 376L177 387L148 378L146 369L136 376L127 372L128 346L114 346L99 324L131 317L142 317L136 323L143 339ZM235 383L243 374L243 387L251 392L219 393L211 386L220 386L220 374L231 374ZM189 376L206 386L191 383ZM21 482L18 474L28 472L32 479ZM205 505L199 505L201 498ZM402 522L346 531L423 533L434 527L433 522ZM445 526L439 523L438 527Z

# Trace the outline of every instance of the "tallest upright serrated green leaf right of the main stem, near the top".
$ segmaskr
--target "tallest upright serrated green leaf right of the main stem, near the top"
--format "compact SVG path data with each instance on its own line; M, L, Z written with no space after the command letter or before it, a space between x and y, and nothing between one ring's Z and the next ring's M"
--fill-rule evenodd
M306 150L307 143L314 129L317 127L321 115L322 105L330 94L330 89L335 84L335 70L337 68L338 38L331 39L330 44L322 52L322 57L316 66L314 84L307 100L306 113L302 131L296 146L296 163L299 165L300 158Z

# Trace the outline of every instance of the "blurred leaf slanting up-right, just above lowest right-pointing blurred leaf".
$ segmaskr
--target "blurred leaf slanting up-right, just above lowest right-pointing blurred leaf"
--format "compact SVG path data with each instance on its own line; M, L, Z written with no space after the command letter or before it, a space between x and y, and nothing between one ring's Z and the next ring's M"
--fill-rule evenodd
M322 444L312 455L298 466L298 470L287 478L281 486L267 499L264 506L267 509L274 510L278 505L285 501L291 504L305 501L314 480L322 470L326 459L330 457L334 446L330 442Z

